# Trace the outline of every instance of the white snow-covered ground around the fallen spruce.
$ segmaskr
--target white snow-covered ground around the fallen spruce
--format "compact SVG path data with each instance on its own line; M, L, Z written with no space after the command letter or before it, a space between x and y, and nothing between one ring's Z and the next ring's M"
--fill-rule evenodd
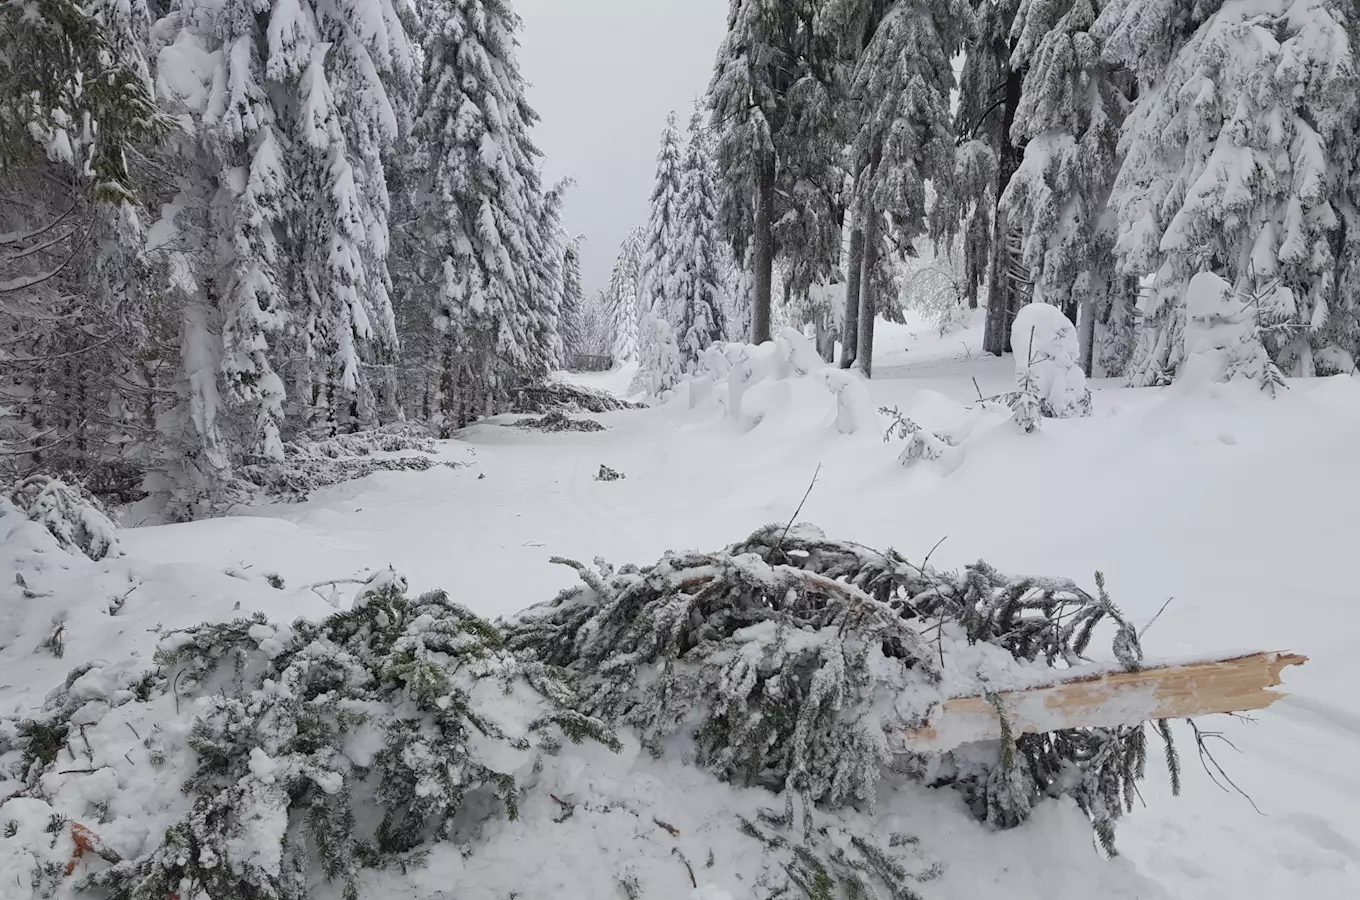
M979 343L978 328L940 339L919 324L883 326L874 404L940 427L979 390L1009 389L1012 362L982 356ZM628 377L573 381L622 392ZM896 817L929 832L923 859L945 863L945 874L923 885L926 897L991 896L1000 884L1046 899L1360 896L1360 608L1346 568L1360 547L1360 379L1293 381L1277 400L1251 386L1191 394L1098 381L1092 417L1046 420L1035 435L982 431L948 474L904 469L902 445L884 443L879 430L838 432L831 396L805 381L764 392L766 415L753 428L683 401L594 416L607 426L597 434L479 424L439 449L466 468L384 472L301 504L128 529L125 559L58 563L38 575L27 593L53 601L23 597L7 575L0 715L35 707L76 662L147 653L155 625L230 616L237 604L284 620L325 615L326 602L302 586L386 566L415 590L445 587L484 616L511 613L573 582L551 556L650 563L666 549L714 549L786 521L817 472L800 518L830 536L914 559L938 544L932 563L942 567L983 557L1004 571L1084 582L1099 568L1133 620L1149 621L1166 605L1144 640L1149 657L1258 648L1310 657L1287 672L1291 696L1255 722L1212 723L1240 750L1216 748L1254 803L1217 787L1182 733L1183 795L1174 799L1163 767L1151 765L1146 808L1119 827L1123 859L1102 861L1072 808L1054 805L993 836L948 791L895 793L874 821L896 828ZM601 465L626 479L596 481ZM228 568L238 576L203 576ZM262 585L269 572L284 590ZM114 619L71 612L63 659L34 648L60 613L52 602L106 602L133 585ZM581 749L543 778L559 797L608 797L631 812L586 810L548 825L559 810L539 795L471 858L437 855L412 876L408 896L447 896L450 886L460 897L615 896L608 865L579 865L608 846L611 865L631 867L643 896L687 897L684 869L656 850L653 817L679 831L699 885L713 882L734 900L763 896L740 881L732 842L745 839L707 814L706 776ZM734 802L753 809L759 798L747 791ZM558 829L551 840L547 828ZM0 840L0 871L19 861L5 846ZM378 878L374 889L397 886ZM0 877L0 899L27 896L26 880Z

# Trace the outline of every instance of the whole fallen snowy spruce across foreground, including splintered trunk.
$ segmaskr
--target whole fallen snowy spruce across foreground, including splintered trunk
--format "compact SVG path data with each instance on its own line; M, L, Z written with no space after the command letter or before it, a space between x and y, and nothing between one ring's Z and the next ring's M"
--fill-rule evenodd
M1155 665L1099 575L1089 593L985 563L944 572L801 525L647 567L568 564L582 587L499 624L384 571L321 621L256 613L163 632L151 668L79 665L41 710L0 718L10 859L37 896L424 896L397 873L518 847L524 832L488 823L529 810L543 846L623 842L581 852L626 896L672 896L643 892L657 873L636 854L673 861L690 896L717 847L743 861L741 896L915 900L944 871L918 835L959 810L887 772L952 786L996 827L1072 797L1112 851L1149 737L1176 783L1167 718L1263 708L1302 662ZM1098 634L1112 661L1087 658ZM664 805L635 737L665 757L649 778L679 779ZM707 861L680 843L685 801ZM533 881L511 873L494 896Z

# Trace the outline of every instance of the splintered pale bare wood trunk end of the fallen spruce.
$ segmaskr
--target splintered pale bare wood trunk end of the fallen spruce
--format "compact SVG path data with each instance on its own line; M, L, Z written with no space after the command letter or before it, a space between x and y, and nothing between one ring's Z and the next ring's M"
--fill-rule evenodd
M972 741L998 740L997 702L1013 734L1263 710L1285 696L1270 691L1280 684L1280 673L1307 661L1288 651L1254 653L1140 672L1081 674L996 697L953 697L937 706L926 725L906 733L903 749L944 753Z

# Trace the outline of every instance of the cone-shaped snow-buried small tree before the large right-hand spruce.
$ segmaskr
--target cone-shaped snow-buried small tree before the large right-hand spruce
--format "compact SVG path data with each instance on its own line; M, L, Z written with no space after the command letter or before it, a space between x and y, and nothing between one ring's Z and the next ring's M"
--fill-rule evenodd
M1250 378L1281 383L1257 330L1257 310L1213 272L1186 285L1185 362L1176 382L1189 387Z

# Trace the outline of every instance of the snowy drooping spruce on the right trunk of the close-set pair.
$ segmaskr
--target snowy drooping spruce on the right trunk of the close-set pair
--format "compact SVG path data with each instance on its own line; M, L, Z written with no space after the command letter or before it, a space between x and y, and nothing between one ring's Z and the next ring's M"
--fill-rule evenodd
M854 136L855 220L864 223L857 366L873 368L877 296L884 272L884 219L898 241L926 231L926 182L945 190L955 154L949 94L966 10L956 0L899 0L884 12L860 60L854 95L864 101Z

